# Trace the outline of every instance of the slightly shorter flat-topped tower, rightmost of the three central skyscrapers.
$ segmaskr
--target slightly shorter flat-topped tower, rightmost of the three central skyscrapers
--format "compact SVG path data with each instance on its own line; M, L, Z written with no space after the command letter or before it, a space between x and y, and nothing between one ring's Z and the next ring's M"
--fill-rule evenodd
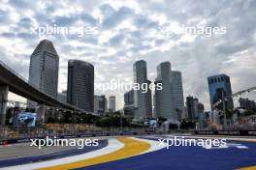
M180 71L172 71L172 94L174 98L174 106L177 119L183 119L184 116L184 97L182 87L182 75Z

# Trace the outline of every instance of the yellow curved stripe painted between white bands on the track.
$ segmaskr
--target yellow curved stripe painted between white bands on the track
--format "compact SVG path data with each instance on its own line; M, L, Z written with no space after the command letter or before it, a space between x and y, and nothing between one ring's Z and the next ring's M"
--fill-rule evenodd
M88 158L84 160L80 160L77 162L66 163L58 166L51 166L46 168L41 168L38 170L68 170L86 167L90 165L95 165L99 163L109 162L113 160L118 160L130 156L135 156L141 153L144 153L148 149L150 149L150 144L141 140L132 139L132 138L119 138L120 142L124 144L124 147L116 152L112 152L107 155L97 156L93 158Z

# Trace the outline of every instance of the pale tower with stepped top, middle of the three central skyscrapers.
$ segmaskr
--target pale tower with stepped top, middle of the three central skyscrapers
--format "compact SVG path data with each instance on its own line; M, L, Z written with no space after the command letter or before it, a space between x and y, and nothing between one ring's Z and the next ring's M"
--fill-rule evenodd
M157 66L155 83L162 83L163 89L155 91L156 114L158 117L176 121L177 115L172 94L172 79L170 62L164 62Z

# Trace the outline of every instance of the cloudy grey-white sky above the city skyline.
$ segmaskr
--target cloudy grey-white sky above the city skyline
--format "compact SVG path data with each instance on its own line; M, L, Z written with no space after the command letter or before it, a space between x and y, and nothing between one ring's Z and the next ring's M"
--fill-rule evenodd
M253 0L0 0L0 60L27 78L31 53L48 39L60 57L59 92L67 89L69 59L93 64L95 83L132 82L133 63L141 59L154 80L156 66L170 61L172 70L182 72L184 96L196 96L209 108L209 75L228 74L233 92L256 85L255 17ZM96 27L98 34L33 32L46 25ZM166 36L159 29L183 27L225 27L226 34ZM123 92L105 94L123 105ZM255 94L243 97L256 99ZM9 99L23 100L13 94Z

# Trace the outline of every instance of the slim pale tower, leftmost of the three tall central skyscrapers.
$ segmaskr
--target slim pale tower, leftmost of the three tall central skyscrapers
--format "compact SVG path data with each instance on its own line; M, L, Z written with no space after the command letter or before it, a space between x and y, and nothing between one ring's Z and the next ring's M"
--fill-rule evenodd
M133 66L133 71L134 83L138 83L140 86L149 83L147 80L146 63L144 60L137 61ZM135 90L134 99L136 107L134 120L138 121L143 120L146 117L152 117L152 101L150 89L147 88L145 93L142 88L140 88L140 90Z

